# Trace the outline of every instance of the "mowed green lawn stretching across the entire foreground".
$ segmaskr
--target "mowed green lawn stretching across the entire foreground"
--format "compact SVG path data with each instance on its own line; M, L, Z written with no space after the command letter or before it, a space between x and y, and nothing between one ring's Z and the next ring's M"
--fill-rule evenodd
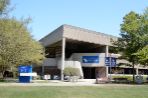
M0 87L0 98L148 98L148 85L126 87Z

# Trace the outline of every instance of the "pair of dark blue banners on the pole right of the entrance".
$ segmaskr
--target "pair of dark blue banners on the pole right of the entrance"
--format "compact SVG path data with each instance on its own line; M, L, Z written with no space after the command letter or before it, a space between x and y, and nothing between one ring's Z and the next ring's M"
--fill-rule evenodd
M105 57L105 65L110 67L116 66L116 58L114 57Z

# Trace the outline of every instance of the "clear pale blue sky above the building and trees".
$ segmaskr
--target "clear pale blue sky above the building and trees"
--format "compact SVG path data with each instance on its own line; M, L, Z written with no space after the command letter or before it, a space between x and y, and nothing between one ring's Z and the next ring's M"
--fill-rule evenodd
M39 40L62 24L119 36L123 16L142 13L148 0L11 0L11 6L18 19L33 19L31 34Z

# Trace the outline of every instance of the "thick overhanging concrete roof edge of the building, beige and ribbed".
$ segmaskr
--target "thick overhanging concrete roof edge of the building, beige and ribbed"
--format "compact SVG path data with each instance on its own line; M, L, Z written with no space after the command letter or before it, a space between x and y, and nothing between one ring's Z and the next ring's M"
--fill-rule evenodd
M61 41L63 37L67 40L76 40L108 46L112 46L111 40L115 41L118 39L118 37L112 35L64 24L46 35L40 40L40 42L43 46L47 47Z

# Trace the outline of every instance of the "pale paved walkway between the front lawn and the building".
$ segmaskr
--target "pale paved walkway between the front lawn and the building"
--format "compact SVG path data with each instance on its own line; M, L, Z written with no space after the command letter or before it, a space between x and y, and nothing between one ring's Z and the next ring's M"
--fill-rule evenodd
M63 82L59 80L39 80L33 81L33 83L0 83L0 86L135 86L131 84L95 84L95 80L79 80L78 82ZM137 86L137 85L136 85ZM138 85L143 86L143 85Z

